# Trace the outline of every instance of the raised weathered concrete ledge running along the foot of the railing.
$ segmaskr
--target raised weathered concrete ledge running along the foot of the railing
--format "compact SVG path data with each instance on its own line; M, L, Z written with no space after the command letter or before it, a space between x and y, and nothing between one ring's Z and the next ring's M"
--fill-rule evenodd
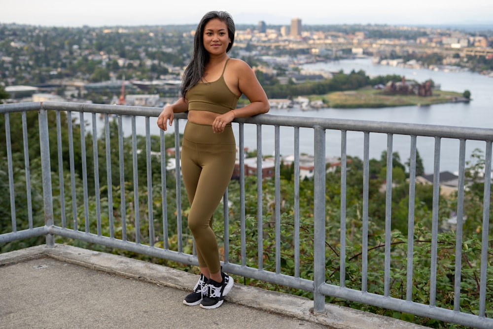
M48 248L43 245L0 254L0 267L41 257L51 257L63 262L152 282L182 291L191 291L197 282L197 275L174 268L67 245L55 245L54 248ZM312 314L313 301L308 298L267 291L238 283L235 283L225 299L230 303L321 324L331 329L426 328L409 322L332 304L325 305L325 314L315 316Z

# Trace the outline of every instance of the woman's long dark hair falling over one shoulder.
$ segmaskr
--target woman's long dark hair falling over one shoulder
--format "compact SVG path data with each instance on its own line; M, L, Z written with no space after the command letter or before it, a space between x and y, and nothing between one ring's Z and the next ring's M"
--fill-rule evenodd
M228 27L228 37L231 42L226 48L226 52L231 50L235 41L235 22L233 17L226 11L210 11L202 17L197 30L195 31L195 37L193 39L193 52L190 62L188 63L185 72L183 73L183 79L181 81L181 96L185 97L188 89L193 87L204 75L204 69L209 61L209 53L204 48L204 27L211 20L217 18Z

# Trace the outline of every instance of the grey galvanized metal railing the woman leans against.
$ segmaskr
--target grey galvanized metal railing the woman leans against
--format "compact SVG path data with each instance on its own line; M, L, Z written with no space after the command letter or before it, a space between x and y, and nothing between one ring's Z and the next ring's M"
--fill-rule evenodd
M33 129L28 126L27 113L31 111L38 112L38 130L39 130L39 146L28 145L28 134ZM37 236L46 235L46 245L53 246L55 243L55 237L65 237L88 243L94 243L111 248L117 248L129 252L135 252L142 255L154 256L172 261L178 261L185 264L197 264L197 258L193 252L187 252L186 246L183 245L183 241L187 240L186 234L183 230L186 230L186 222L182 221L183 203L186 201L182 199L182 184L180 182L180 161L179 151L176 152L176 160L174 171L174 179L176 181L175 188L167 186L167 173L168 175L173 172L166 168L167 159L165 156L165 134L160 132L160 150L159 152L151 152L151 118L154 119L160 113L161 109L157 108L142 108L142 107L125 107L125 106L106 106L106 105L92 105L92 104L75 104L75 103L59 103L59 102L44 102L44 103L21 103L21 104L8 104L0 105L0 113L5 119L5 145L4 147L6 159L1 159L1 167L3 170L8 171L8 184L9 184L9 197L10 197L10 210L3 213L10 213L11 231L3 232L0 234L0 244L4 244L11 241L22 240ZM23 168L23 180L26 187L26 205L27 210L23 211L23 214L27 214L24 218L18 218L16 210L19 210L19 201L16 197L19 196L17 191L15 177L18 177L18 169L13 167L13 154L17 154L20 151L12 151L12 138L20 138L20 131L11 131L10 116L14 112L20 112L22 118L22 139L23 139L23 154L25 159L25 168ZM55 113L50 116L49 113ZM67 115L67 119L62 119L64 113ZM73 115L78 113L78 117ZM86 143L88 133L85 131L86 125L80 125L80 154L79 148L74 147L74 138L77 136L73 134L73 128L76 121L85 122L85 114L91 115L90 126L92 131L89 132L89 136L92 135L92 157L86 150ZM116 119L110 121L112 115L116 116ZM101 116L102 119L98 119ZM138 146L138 127L136 124L137 118L144 119L144 131L139 130L139 133L143 133L145 136L145 146ZM180 120L186 119L185 114L177 114L174 124L174 136L175 136L175 149L179 150L179 137L180 137ZM98 124L103 122L103 134L100 134L97 130ZM131 120L131 153L126 152L125 148L127 140L123 131L123 120ZM111 122L117 125L116 136L110 136ZM62 125L67 124L64 128ZM437 319L445 322L457 323L465 326L476 328L492 328L493 319L487 317L487 293L491 294L492 286L488 283L487 269L491 266L491 254L489 255L489 222L490 222L490 175L485 175L484 179L484 196L483 196L483 218L482 226L479 229L482 232L481 236L481 261L476 264L478 272L480 273L477 278L479 282L479 308L474 311L474 314L461 312L460 309L460 296L461 296L461 258L462 258L462 224L464 213L464 190L465 187L465 172L466 172L466 141L482 141L484 142L485 156L485 173L491 172L491 159L492 159L492 141L493 141L493 129L479 129L479 128L464 128L464 127L450 127L450 126L432 126L432 125L419 125L419 124L404 124L404 123L389 123L389 122L376 122L376 121L361 121L361 120L341 120L341 119L328 119L328 118L307 118L307 117L295 117L284 115L270 115L263 114L252 118L236 119L234 121L234 128L238 128L239 149L245 148L245 127L256 127L256 147L257 147L257 176L256 176L256 189L257 189L257 209L256 214L248 214L249 217L256 217L256 237L257 237L257 264L251 264L247 262L246 256L246 195L245 195L245 153L239 152L239 192L240 192L240 246L238 257L239 261L232 262L230 259L230 219L229 219L229 206L228 206L228 191L226 191L223 199L223 227L224 227L224 255L223 255L223 268L233 274L241 275L251 279L258 279L272 284L284 285L292 287L294 289L300 289L306 292L313 292L314 297L314 313L321 314L324 311L325 296L332 296L350 300L354 302L364 303L377 307L382 307L390 310L396 310L413 314L416 316L423 316L427 318ZM275 236L275 270L269 271L264 269L263 257L265 250L263 250L264 240L264 222L263 219L267 214L264 213L265 200L263 199L263 179L262 179L262 127L272 126L274 127L274 186L275 186L275 200L272 216L274 220L274 236ZM285 272L282 266L282 236L281 236L281 133L280 127L292 127L293 128L293 140L294 140L294 177L300 175L300 128L308 128L313 131L313 149L314 149L314 177L313 177L313 279L305 275L300 275L300 181L294 180L294 200L293 203L293 246L292 261L294 262L293 273ZM114 127L113 127L114 128ZM68 133L62 133L67 131ZM339 207L339 221L340 221L340 239L339 239L339 253L340 253L340 279L339 284L327 283L326 281L326 232L327 232L327 205L326 205L326 140L327 132L338 131L340 132L340 207ZM53 132L56 132L53 135ZM361 244L361 287L360 289L346 287L346 269L347 269L347 233L349 228L346 227L347 223L347 177L348 173L348 154L347 154L347 141L348 132L360 132L363 133L363 179L362 179L362 200L361 200L361 232L362 241ZM128 133L128 132L127 132ZM385 202L385 261L384 261L384 293L378 294L369 292L368 275L369 264L371 259L368 259L369 253L369 223L371 218L368 215L369 208L369 191L370 191L370 135L371 134L385 134L387 136L387 179L386 179L386 202ZM397 298L390 296L389 285L391 271L391 217L392 217L392 151L393 151L393 137L394 135L404 135L410 140L410 173L409 173L409 213L408 213L408 241L407 241L407 265L406 265L406 288L405 298ZM56 136L56 140L54 137ZM420 303L413 301L413 283L416 283L416 278L413 277L413 253L414 253L414 233L415 233L415 188L416 188L416 161L417 161L417 138L428 137L434 140L434 179L433 179L433 195L432 195L432 219L431 219L431 247L429 255L429 303ZM115 144L115 139L117 144ZM455 262L454 266L454 307L453 309L446 309L438 307L436 305L436 291L439 289L437 284L437 253L439 252L439 245L437 241L439 231L439 200L440 200L440 147L442 139L454 139L459 141L459 157L458 157L458 193L457 193L457 231L456 231L456 248L455 248ZM104 140L105 153L100 154L100 146L98 143L100 140ZM91 141L89 139L89 141ZM140 141L141 142L141 141ZM265 141L264 141L265 142ZM44 209L44 223L36 225L33 220L36 214L33 214L31 199L34 194L32 183L32 161L30 160L30 150L32 148L39 147L40 152L40 166L42 176L42 209ZM145 148L145 172L147 177L145 195L139 195L141 190L139 186L141 182L138 181L139 167L138 159L141 156L140 150ZM17 152L17 153L16 153ZM114 162L114 154L118 154L118 164ZM157 155L156 155L157 154ZM69 157L70 169L64 169L63 161ZM127 157L132 158L132 179L130 182L133 184L133 193L126 192L123 188L128 184L125 173L129 173L129 168L125 166ZM157 161L156 161L157 158ZM58 173L56 165L52 163L53 159L58 161ZM88 164L87 161L92 162ZM142 159L142 158L141 158ZM78 163L80 161L80 163ZM100 161L104 164L101 166ZM156 170L153 165L159 164L160 177L155 177ZM100 168L105 168L106 165L106 190L104 191L104 198L102 198L102 187L100 182L104 181L100 176ZM92 167L92 168L91 168ZM115 169L118 171L115 173ZM67 170L69 174L67 174ZM94 171L94 182L88 181L88 174L90 170ZM58 174L58 175L57 175ZM154 175L154 176L153 176ZM158 175L159 176L159 175ZM114 178L119 177L119 181L114 182ZM170 176L168 176L170 179ZM159 183L156 183L156 180ZM53 183L57 181L58 184ZM119 195L118 189L114 187L115 183L119 183ZM80 184L82 186L80 186ZM94 193L88 190L88 186L94 185ZM70 191L66 191L66 188ZM160 195L156 195L160 194ZM141 193L142 194L142 193ZM82 196L82 201L80 198ZM145 200L141 202L139 200ZM91 200L91 202L89 202ZM104 200L105 205L102 206ZM133 200L129 202L129 200ZM160 200L156 204L156 200ZM66 202L67 201L67 202ZM36 201L39 202L39 201ZM177 242L174 245L174 250L169 244L169 208L176 202L176 236ZM91 205L89 205L89 203ZM118 204L119 203L119 204ZM147 211L142 210L142 205L147 204ZM82 205L82 209L80 206ZM175 205L173 205L175 207ZM102 209L107 211L104 214ZM71 214L69 212L71 211ZM115 214L119 213L119 218L115 219ZM141 219L141 214L145 215L145 218ZM156 214L160 214L160 220L156 220ZM104 215L104 216L103 216ZM130 216L131 215L131 216ZM71 217L71 219L70 219ZM82 218L84 223L82 224ZM107 226L109 230L103 232L102 218L107 220ZM8 221L7 218L0 218L1 221ZM96 220L96 231L90 230L91 222ZM116 224L118 222L118 224ZM142 226L147 226L146 232L142 233ZM2 225L3 227L5 225ZM84 230L79 230L79 227L84 227ZM20 229L18 229L20 227ZM106 227L106 226L105 226ZM162 231L156 232L155 228L160 227ZM148 229L148 231L147 231ZM2 232L0 232L2 233ZM141 239L141 236L143 238ZM128 237L133 237L133 241L129 241Z

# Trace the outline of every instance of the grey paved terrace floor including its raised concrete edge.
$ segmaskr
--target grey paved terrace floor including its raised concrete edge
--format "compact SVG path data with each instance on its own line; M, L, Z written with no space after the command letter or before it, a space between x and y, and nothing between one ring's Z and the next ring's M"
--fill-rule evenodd
M70 246L0 254L0 328L424 328L236 284L214 310L186 306L197 275Z

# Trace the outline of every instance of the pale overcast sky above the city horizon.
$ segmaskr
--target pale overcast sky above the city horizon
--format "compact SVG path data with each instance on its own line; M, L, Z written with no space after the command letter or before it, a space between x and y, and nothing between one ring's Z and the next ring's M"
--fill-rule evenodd
M237 24L493 24L490 0L8 0L0 23L42 26L194 24L210 10L228 11Z

